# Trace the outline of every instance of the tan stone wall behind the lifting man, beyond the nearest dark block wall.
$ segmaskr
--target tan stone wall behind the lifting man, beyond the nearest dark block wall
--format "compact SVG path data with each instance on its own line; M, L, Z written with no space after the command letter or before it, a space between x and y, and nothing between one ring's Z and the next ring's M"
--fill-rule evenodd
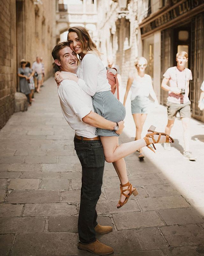
M25 30L21 31L25 37L25 53L18 54L18 63L25 58L32 64L36 56L42 57L47 79L53 72L51 52L56 44L55 1L43 0L42 3L34 5L32 0L25 1Z

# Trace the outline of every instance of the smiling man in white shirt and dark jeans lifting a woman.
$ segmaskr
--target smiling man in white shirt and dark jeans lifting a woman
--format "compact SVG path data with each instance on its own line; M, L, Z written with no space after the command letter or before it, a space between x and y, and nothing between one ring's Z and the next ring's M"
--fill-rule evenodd
M55 64L61 72L76 74L78 59L76 53L62 42L52 51ZM84 82L85 83L85 82ZM96 127L114 130L114 122L104 119L93 112L91 96L84 92L72 80L63 80L58 87L58 95L62 113L75 130L74 145L82 165L81 202L78 219L78 248L100 255L113 253L113 248L100 243L95 234L105 234L112 231L111 226L101 226L97 223L96 204L101 194L105 157L100 137L96 137ZM120 134L124 122L119 122Z

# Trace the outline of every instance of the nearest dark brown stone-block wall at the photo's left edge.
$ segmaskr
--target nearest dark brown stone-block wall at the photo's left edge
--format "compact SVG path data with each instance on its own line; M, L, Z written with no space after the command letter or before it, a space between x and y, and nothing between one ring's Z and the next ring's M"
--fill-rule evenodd
M16 90L16 4L0 1L0 129L14 112Z

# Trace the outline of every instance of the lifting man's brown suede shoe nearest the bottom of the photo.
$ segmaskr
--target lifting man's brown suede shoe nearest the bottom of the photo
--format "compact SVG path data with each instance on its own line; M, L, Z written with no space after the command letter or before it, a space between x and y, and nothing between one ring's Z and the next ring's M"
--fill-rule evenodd
M78 242L77 247L80 250L85 250L85 251L92 252L92 253L95 253L98 255L109 255L114 252L112 247L110 247L106 244L102 244L97 239L95 242L93 242L91 244L82 244L81 242Z

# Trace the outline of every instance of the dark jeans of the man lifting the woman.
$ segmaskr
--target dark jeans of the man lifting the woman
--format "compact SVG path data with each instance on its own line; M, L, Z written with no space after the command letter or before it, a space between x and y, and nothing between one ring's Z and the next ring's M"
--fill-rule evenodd
M100 140L78 140L74 146L82 165L81 202L78 219L79 240L90 244L96 240L96 204L101 194L105 157Z

